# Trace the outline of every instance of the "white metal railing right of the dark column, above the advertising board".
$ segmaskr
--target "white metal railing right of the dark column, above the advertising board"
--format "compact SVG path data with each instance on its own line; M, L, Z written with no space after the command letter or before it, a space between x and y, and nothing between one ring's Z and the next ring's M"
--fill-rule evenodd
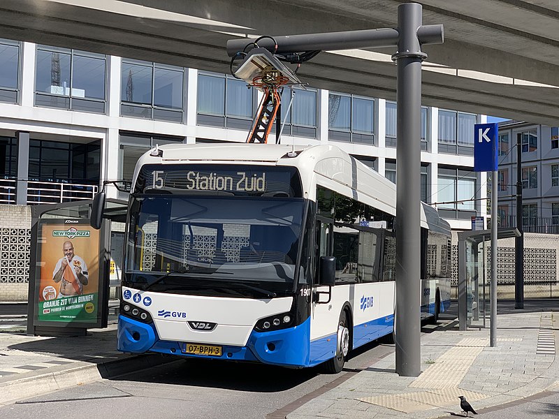
M27 182L27 204L58 204L93 199L99 186L59 182Z

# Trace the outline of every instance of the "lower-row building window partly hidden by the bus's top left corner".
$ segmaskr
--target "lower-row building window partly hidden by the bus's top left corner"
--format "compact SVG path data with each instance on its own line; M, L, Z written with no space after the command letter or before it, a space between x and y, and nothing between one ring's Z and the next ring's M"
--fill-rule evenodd
M156 145L184 142L182 137L147 135L139 133L120 133L120 173L122 180L131 182L138 159Z

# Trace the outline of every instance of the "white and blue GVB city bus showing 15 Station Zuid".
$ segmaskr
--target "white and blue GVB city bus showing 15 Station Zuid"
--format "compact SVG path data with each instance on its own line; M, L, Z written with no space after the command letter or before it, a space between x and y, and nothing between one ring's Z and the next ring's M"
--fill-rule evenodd
M153 149L129 199L118 349L340 372L393 333L394 216L395 185L332 145ZM421 230L417 297L436 318L450 228L423 204Z

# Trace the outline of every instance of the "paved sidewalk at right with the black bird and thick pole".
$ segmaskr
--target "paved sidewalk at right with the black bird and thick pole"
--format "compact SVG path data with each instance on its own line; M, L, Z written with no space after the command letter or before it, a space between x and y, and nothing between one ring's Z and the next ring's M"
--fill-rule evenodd
M419 377L395 374L391 353L287 418L463 416L460 395L484 413L491 406L559 391L558 330L559 312L551 311L498 316L495 348L489 346L488 325L465 332L435 330L422 336Z

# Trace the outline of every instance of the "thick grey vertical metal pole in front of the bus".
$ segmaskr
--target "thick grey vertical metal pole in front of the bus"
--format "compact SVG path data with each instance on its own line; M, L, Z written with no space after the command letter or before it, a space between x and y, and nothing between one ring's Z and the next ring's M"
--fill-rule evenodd
M421 374L421 5L398 6L396 147L396 373Z

